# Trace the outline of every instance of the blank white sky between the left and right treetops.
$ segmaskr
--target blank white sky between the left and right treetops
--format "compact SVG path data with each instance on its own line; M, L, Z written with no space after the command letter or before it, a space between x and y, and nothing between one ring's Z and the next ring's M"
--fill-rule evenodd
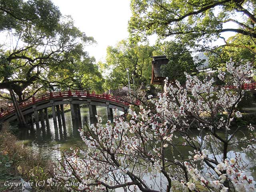
M130 0L52 0L63 15L71 15L74 24L97 44L86 47L96 62L104 60L107 46L128 38L131 17Z

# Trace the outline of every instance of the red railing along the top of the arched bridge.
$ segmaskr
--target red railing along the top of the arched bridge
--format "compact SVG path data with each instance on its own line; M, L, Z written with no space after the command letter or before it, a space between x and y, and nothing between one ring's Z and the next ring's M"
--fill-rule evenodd
M121 97L118 96L111 96L109 94L95 94L90 93L87 91L80 91L80 90L69 90L69 91L62 91L62 92L50 92L48 94L40 95L40 96L33 96L32 98L25 100L24 102L20 103L20 108L25 108L29 105L36 104L37 102L45 101L45 100L51 100L54 98L66 98L66 97L86 97L86 98L97 98L107 101L116 102L119 104L123 104L126 106L129 106L128 102L122 101ZM14 106L10 106L7 110L0 113L0 118L7 116L9 114L12 114L15 112Z

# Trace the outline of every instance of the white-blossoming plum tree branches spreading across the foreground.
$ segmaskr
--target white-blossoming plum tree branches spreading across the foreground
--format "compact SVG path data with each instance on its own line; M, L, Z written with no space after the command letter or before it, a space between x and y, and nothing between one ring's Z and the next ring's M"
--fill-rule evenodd
M230 156L231 148L242 142L242 151L254 160L254 126L248 126L250 135L242 139L232 129L234 116L242 117L236 107L251 72L248 63L226 64L218 78L229 76L229 85L237 87L232 92L216 89L210 76L200 80L186 74L185 85L166 78L165 92L148 96L148 106L130 107L128 116L115 116L113 124L102 125L96 116L97 124L80 130L84 146L64 156L47 181L80 182L66 188L84 192L110 191L122 184L134 191L256 191L250 164L241 152Z

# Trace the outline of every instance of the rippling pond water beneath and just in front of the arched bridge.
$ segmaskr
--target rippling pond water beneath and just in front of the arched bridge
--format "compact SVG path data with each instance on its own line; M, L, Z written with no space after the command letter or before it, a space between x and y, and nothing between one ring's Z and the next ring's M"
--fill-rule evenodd
M62 110L62 109L60 109ZM88 108L80 108L82 127L87 123L90 124L90 115ZM103 123L107 122L106 107L97 106L97 114L102 117ZM60 116L63 119L63 117ZM57 160L61 157L61 152L70 150L70 147L79 146L81 144L78 129L81 128L78 122L72 127L71 112L65 113L65 123L62 126L54 122L52 118L40 124L40 132L36 132L36 125L30 129L22 130L19 135L20 140L26 140L26 143L32 147L35 153L40 153L45 158ZM58 118L57 118L58 119Z

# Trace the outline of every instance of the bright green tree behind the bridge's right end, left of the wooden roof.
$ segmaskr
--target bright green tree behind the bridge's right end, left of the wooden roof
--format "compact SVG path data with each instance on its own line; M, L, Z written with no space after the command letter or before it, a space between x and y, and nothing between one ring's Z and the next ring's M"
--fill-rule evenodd
M106 63L99 63L102 72L107 74L105 89L115 89L128 84L126 68L129 68L130 83L140 86L149 84L151 79L151 62L154 47L148 44L134 45L127 40L118 42L116 47L107 48ZM133 84L134 82L134 84Z

